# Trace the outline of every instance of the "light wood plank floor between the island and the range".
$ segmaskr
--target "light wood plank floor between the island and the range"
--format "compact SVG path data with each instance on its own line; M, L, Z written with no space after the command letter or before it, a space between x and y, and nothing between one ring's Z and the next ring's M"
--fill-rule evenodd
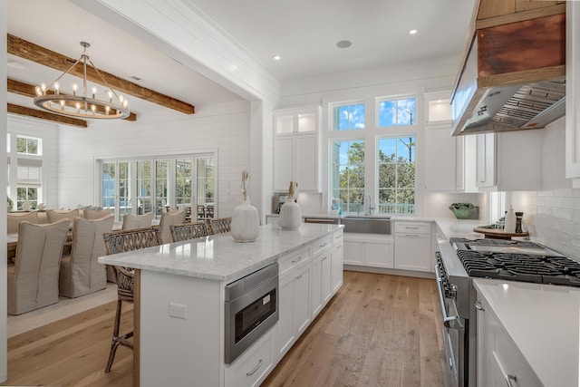
M343 287L262 384L443 386L434 279L344 272Z

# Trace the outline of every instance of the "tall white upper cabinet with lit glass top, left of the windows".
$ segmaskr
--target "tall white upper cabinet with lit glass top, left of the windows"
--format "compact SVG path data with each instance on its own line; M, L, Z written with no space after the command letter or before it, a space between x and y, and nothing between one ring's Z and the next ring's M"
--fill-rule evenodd
M274 112L274 190L285 191L290 181L299 191L320 191L321 108Z

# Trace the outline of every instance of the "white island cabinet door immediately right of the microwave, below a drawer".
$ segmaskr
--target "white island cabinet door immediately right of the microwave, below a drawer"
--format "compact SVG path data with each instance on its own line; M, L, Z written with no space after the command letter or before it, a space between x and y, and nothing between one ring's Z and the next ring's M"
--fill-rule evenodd
M285 355L311 322L311 271L312 261L308 258L280 277L278 359Z

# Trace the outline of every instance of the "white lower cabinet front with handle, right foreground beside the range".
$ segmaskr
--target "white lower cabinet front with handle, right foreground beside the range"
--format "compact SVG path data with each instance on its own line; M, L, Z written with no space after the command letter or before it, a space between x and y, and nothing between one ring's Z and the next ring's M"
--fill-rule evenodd
M478 293L478 386L539 387L536 373Z

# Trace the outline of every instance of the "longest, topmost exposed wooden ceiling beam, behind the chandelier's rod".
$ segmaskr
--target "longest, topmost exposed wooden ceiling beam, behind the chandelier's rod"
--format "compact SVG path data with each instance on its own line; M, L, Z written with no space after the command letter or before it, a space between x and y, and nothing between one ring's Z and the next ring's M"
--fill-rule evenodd
M7 35L7 46L8 53L35 63L43 64L44 66L51 67L63 73L76 62L76 59L69 58L60 53L55 53L38 44L28 42L12 34ZM69 73L82 78L82 66L74 66ZM193 114L195 112L194 106L187 102L182 102L173 97L169 97L168 95L161 94L160 92L141 87L136 83L126 81L111 73L103 72L102 70L99 70L99 73L114 90L141 100L157 103L158 105L182 113ZM87 65L87 80L106 86L103 84L101 77L99 77L94 68L90 65Z

